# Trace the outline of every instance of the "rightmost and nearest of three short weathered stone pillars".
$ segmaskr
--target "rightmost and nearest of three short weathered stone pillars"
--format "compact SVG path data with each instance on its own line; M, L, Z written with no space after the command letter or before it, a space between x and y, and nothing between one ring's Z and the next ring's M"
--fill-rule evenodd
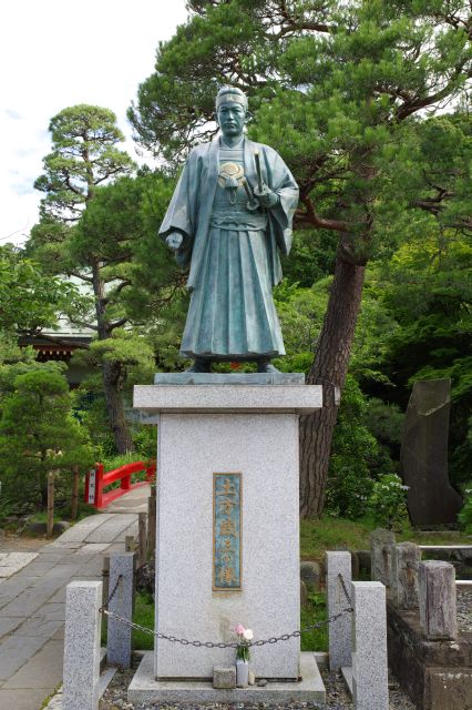
M420 562L420 623L428 640L458 638L455 569L449 562Z

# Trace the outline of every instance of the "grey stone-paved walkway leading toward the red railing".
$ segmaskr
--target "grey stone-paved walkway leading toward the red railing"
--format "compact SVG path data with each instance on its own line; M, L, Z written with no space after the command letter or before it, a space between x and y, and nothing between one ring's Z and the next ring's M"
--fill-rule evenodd
M21 554L12 554L13 571L10 556L2 552L0 566L10 567L11 575L0 578L1 709L39 710L62 682L65 587L74 579L100 580L103 556L123 551L125 536L137 535L136 513L148 489L129 495L137 491L127 508L132 511L84 518L33 559L30 555L24 566Z

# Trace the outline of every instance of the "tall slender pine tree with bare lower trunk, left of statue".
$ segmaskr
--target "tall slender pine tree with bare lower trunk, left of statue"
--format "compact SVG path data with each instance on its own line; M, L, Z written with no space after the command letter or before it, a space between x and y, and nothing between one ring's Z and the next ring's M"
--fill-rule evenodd
M133 283L133 244L143 236L141 182L127 179L131 158L116 144L123 140L116 116L107 109L78 105L51 120L53 152L35 186L47 193L41 222L32 231L30 252L93 290L74 324L98 333L90 357L100 361L110 429L119 450L133 448L121 390L133 357L120 328L130 321L123 292ZM115 184L114 180L121 178ZM88 307L86 307L88 305ZM114 335L114 332L116 334ZM143 347L138 347L140 353Z

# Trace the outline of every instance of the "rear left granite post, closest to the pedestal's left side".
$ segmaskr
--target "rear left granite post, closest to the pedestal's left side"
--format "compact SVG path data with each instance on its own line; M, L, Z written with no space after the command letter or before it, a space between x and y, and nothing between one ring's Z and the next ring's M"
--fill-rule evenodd
M134 554L112 554L110 556L110 594L115 588L117 578L122 576L116 592L110 600L109 609L123 619L133 617L134 596ZM131 666L131 627L113 617L107 617L109 632L106 642L106 662L111 666L130 668Z

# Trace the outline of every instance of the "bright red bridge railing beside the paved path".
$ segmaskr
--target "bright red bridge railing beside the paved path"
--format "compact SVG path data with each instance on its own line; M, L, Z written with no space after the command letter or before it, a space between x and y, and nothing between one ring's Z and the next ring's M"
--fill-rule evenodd
M146 480L138 480L134 484L131 483L133 474L141 471L146 473ZM114 468L113 470L104 471L103 464L95 464L95 468L89 470L85 477L85 503L95 508L106 508L113 500L120 498L125 493L130 493L134 488L146 486L155 479L156 466L155 464L145 464L144 462L135 462L133 464L126 464ZM113 488L104 493L104 488L111 486L116 480L121 480L120 488Z

